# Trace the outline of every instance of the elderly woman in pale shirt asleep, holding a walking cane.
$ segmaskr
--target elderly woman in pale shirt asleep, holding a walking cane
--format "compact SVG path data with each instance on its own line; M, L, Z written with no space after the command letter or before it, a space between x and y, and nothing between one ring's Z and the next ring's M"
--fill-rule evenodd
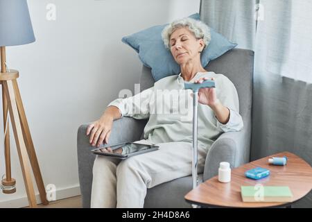
M162 39L181 73L162 78L135 96L112 101L103 116L87 128L89 142L99 147L107 144L114 119L148 119L144 139L138 142L156 144L159 150L125 160L97 155L91 207L144 207L147 188L191 175L193 106L191 101L185 108L192 96L191 90L184 89L184 81L213 79L216 84L216 88L199 91L198 173L202 173L207 151L218 136L243 128L233 83L223 74L205 70L200 63L200 53L209 45L209 28L194 19L180 19L164 28ZM163 100L164 96L171 98L168 95L175 99Z

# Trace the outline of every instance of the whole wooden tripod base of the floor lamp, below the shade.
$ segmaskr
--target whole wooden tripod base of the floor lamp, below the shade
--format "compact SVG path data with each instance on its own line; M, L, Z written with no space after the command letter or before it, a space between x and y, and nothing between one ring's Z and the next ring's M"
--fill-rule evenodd
M21 171L23 173L24 184L28 197L28 203L30 207L37 207L35 198L35 190L33 187L33 181L31 178L31 168L33 169L33 175L37 183L37 188L40 193L40 198L44 205L48 205L46 200L46 189L42 180L35 148L33 146L33 139L31 138L31 132L29 130L24 106L21 101L21 94L19 93L19 87L17 85L17 78L19 72L16 70L6 70L6 48L1 46L1 73L0 83L2 85L2 101L3 101L3 126L6 133L5 144L5 159L6 159L6 178L2 182L2 189L4 194L12 194L16 191L15 179L11 178L10 170L10 137L9 127L6 126L6 119L8 112L10 112L10 119L12 123L12 129L15 136L15 143L17 146L17 153L19 154L19 162L21 164ZM30 164L31 166L30 166Z

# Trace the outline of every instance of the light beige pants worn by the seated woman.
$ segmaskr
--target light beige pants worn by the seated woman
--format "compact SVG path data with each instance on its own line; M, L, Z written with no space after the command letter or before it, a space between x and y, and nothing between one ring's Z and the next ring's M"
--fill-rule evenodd
M137 141L150 144L148 140ZM144 207L147 188L192 173L192 144L156 144L159 150L118 160L96 156L91 207ZM204 171L205 148L198 147L198 173Z

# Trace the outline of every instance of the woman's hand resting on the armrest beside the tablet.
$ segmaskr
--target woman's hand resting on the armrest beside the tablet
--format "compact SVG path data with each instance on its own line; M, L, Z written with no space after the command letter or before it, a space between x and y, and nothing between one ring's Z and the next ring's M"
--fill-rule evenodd
M89 143L92 146L99 147L103 142L108 143L112 130L114 118L110 115L104 115L101 119L94 121L87 128L87 135L90 135Z

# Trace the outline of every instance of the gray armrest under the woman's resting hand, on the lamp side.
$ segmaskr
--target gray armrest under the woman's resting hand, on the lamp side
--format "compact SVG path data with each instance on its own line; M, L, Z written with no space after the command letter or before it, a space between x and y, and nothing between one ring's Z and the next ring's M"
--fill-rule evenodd
M146 121L146 119L139 120L132 117L114 120L108 144L139 140ZM86 135L88 126L89 123L83 124L78 128L77 133L78 173L83 207L90 207L92 168L95 159L95 155L90 150L96 148L89 144L89 136Z

